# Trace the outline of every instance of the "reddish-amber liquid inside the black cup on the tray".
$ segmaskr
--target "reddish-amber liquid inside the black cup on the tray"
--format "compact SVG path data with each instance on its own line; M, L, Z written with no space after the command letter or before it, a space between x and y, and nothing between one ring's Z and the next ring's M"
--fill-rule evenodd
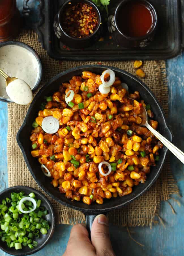
M132 1L123 5L119 10L117 21L121 32L130 37L145 36L154 24L150 7L142 1Z

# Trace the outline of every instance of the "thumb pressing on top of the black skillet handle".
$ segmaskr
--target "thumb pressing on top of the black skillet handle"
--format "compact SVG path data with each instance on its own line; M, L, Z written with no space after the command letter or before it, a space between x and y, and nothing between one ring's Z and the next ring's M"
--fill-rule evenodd
M95 247L97 255L115 256L109 235L108 219L99 214L91 227L91 243Z

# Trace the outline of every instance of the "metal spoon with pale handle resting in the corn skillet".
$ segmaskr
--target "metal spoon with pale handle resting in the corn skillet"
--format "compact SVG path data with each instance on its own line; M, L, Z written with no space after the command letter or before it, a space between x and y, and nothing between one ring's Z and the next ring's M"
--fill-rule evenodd
M132 98L129 98L129 100L133 104L134 100ZM141 118L142 123L140 126L146 126L147 129L149 129L149 131L151 131L164 144L164 146L166 146L184 164L184 153L149 125L147 120L147 111L144 107L142 107Z

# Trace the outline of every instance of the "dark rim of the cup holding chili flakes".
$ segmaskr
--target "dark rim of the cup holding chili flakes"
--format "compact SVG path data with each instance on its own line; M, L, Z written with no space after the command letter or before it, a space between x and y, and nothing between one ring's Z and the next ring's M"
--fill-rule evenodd
M72 37L72 36L70 36L69 34L67 34L67 33L65 32L65 30L63 29L62 24L61 24L61 22L60 22L60 15L61 15L63 9L65 8L65 6L66 6L69 2L71 2L71 4L72 4L72 1L76 1L76 0L68 0L68 1L66 1L66 2L60 7L60 9L59 9L59 12L58 12L58 14L57 14L59 28L60 28L61 31L65 34L65 36L67 36L67 37L70 38L71 40L78 41L78 42L86 41L86 40L92 38L92 37L98 32L98 30L99 30L99 28L100 28L100 25L101 25L101 14L100 14L100 11L99 11L98 7L95 5L95 3L93 3L92 1L90 1L90 0L78 0L77 2L86 2L86 3L89 3L90 5L93 6L93 8L95 9L95 11L97 12L97 15L99 16L99 18L98 18L98 26L97 26L97 28L95 29L94 33L91 34L91 35L89 35L89 36L86 36L86 37L84 37L84 38L75 38L75 37Z

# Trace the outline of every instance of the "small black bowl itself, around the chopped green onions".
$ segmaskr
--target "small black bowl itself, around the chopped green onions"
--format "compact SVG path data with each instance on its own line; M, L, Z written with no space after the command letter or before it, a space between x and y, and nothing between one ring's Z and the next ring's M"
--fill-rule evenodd
M36 241L38 242L38 245L34 247L33 249L30 249L28 246L23 246L22 249L16 250L15 247L9 248L7 246L6 242L1 241L0 239L0 249L5 251L6 253L9 253L11 255L30 255L33 253L36 253L37 251L41 250L52 238L54 234L54 228L55 228L55 217L54 217L54 209L52 208L51 203L49 200L38 190L33 189L32 187L27 186L15 186L15 187L9 187L3 191L0 192L0 198L1 201L5 199L6 197L11 198L12 192L20 192L24 191L25 194L29 195L29 193L34 192L37 199L40 199L41 206L43 206L46 210L48 210L48 214L45 216L45 219L50 224L50 229L48 230L48 233L46 235L40 235ZM1 254L1 253L0 253Z

